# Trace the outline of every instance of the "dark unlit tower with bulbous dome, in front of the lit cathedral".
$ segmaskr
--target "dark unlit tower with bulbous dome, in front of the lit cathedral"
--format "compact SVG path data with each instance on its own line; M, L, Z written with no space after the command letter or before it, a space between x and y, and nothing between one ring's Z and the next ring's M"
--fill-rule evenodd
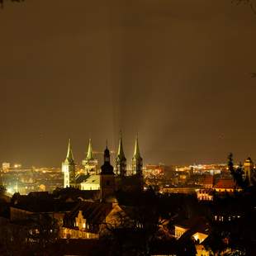
M111 197L115 193L115 173L110 164L110 153L106 148L104 151L104 164L100 173L101 200Z

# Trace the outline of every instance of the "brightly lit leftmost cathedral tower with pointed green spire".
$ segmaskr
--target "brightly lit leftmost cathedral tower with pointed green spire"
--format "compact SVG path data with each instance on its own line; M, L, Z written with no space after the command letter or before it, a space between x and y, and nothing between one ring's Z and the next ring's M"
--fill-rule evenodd
M62 172L64 173L64 187L75 186L75 163L69 139L68 153L66 159L62 162Z

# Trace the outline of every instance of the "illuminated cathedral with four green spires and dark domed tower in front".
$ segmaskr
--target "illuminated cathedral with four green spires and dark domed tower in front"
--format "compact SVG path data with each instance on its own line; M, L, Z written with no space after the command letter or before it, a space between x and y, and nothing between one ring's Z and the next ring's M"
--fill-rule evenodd
M123 149L122 135L120 132L118 149L115 159L115 168L110 163L110 151L104 151L104 164L98 170L98 162L92 152L92 140L89 140L88 151L82 161L82 169L78 170L73 159L71 141L69 140L68 153L62 163L64 173L64 187L78 187L82 190L100 190L101 198L110 196L111 193L124 190L143 190L143 159L140 155L139 139L135 139L134 154L131 159L131 173L127 174L126 155Z

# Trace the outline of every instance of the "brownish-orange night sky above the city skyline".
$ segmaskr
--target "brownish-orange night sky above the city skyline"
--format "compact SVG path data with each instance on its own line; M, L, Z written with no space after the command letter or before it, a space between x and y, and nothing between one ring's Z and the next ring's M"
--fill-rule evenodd
M26 0L0 11L0 162L73 140L145 163L256 161L256 16L230 0ZM102 159L102 157L100 157Z

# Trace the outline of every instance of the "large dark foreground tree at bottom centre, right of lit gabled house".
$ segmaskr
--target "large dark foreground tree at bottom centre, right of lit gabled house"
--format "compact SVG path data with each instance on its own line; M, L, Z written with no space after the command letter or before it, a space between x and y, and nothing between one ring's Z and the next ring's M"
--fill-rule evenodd
M103 223L107 230L103 238L110 241L111 255L150 255L156 243L169 239L160 216L159 196L150 188L132 196L120 192L119 196L134 200L122 204L126 206L117 212L115 221Z

